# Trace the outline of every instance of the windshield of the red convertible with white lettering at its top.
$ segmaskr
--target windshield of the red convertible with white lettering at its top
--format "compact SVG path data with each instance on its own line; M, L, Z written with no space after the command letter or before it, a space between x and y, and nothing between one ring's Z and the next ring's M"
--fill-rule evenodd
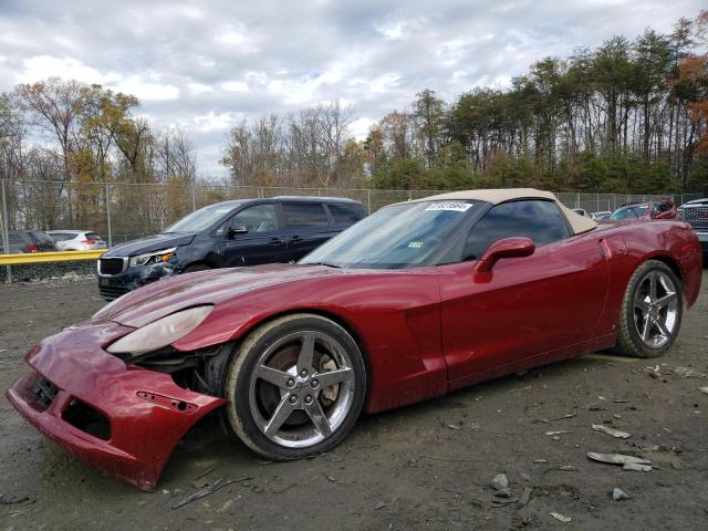
M468 201L386 207L332 238L300 263L371 269L427 266L447 236L476 208L478 204Z

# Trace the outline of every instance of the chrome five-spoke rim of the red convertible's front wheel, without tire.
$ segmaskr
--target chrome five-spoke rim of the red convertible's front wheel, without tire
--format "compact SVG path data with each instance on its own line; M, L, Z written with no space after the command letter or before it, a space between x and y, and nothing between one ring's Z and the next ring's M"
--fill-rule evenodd
M258 428L288 448L313 446L346 418L356 378L346 350L316 331L295 332L270 345L249 382Z

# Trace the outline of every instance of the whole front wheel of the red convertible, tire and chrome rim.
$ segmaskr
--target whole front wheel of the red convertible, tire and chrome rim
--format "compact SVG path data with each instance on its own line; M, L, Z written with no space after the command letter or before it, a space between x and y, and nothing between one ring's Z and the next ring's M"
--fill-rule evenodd
M275 319L252 332L225 378L228 424L269 459L326 451L354 426L366 368L354 339L313 314Z

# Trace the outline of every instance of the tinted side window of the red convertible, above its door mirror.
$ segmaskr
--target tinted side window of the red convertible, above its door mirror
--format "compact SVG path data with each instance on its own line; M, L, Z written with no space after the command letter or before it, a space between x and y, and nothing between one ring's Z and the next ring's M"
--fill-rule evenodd
M537 247L570 236L565 217L551 201L503 202L491 208L470 230L464 259L481 257L494 241L511 237L531 238Z

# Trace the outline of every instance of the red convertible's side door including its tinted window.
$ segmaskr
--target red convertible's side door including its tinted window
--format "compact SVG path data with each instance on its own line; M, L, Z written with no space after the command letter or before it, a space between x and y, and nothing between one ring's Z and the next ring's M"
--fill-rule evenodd
M478 279L475 259L494 241L528 237L533 254L502 259ZM469 260L442 266L442 348L451 388L539 360L593 336L607 292L598 238L571 237L554 202L493 207L471 229ZM442 271L441 271L442 272Z

